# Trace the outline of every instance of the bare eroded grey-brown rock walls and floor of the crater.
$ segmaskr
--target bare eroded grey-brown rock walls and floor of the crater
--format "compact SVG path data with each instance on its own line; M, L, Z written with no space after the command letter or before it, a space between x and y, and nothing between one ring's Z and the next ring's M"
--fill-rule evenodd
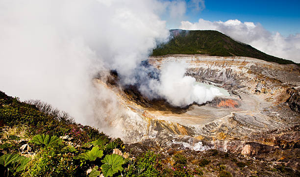
M247 57L170 55L149 59L158 69L163 63L177 61L188 63L186 75L225 88L230 96L176 108L163 100L149 101L134 88L116 89L127 110L122 118L125 141L165 150L218 149L271 161L283 158L299 168L299 66ZM111 83L106 84L115 87Z

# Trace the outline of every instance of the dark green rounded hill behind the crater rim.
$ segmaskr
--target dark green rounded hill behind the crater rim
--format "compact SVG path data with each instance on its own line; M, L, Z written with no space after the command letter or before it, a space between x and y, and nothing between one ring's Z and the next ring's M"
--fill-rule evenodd
M279 64L293 61L268 55L250 45L237 42L214 30L170 30L172 39L153 50L152 56L166 54L208 54L212 56L247 56Z

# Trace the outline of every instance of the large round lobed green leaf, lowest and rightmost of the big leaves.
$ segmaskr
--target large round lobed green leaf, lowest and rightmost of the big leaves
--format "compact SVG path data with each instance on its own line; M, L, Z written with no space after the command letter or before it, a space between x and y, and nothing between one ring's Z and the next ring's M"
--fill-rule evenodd
M106 155L101 162L104 163L101 166L104 177L112 177L115 173L124 170L122 165L125 164L125 160L121 155Z

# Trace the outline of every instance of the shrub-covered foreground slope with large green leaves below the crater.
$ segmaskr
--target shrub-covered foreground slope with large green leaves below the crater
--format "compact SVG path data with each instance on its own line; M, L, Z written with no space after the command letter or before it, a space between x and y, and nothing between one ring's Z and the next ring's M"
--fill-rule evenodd
M0 177L299 176L267 163L275 164L215 149L162 149L150 141L125 145L48 103L22 102L0 91Z

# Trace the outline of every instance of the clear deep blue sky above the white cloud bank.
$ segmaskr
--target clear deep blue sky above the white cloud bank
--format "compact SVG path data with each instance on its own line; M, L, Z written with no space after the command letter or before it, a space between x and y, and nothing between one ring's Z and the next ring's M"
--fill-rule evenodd
M187 4L190 1L186 0ZM300 33L300 0L205 0L204 3L202 11L187 5L183 20L194 23L200 18L212 22L238 19L260 23L267 30L284 36ZM176 26L169 23L168 27Z

